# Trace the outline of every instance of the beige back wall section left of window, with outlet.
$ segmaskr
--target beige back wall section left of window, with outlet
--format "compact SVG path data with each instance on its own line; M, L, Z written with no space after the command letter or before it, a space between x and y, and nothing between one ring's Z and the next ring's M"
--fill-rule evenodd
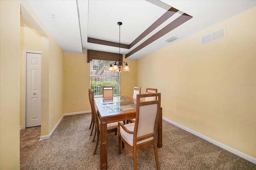
M83 54L64 53L64 113L91 110L88 88L90 88L90 63L87 51ZM76 105L72 105L72 102Z

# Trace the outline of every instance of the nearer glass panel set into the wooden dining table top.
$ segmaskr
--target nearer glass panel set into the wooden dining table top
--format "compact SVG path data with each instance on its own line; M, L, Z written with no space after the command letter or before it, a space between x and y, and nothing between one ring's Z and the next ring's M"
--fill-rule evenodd
M116 103L108 102L108 103L103 103L102 106L104 107L107 113L136 109L136 104L134 104L134 101L116 102Z

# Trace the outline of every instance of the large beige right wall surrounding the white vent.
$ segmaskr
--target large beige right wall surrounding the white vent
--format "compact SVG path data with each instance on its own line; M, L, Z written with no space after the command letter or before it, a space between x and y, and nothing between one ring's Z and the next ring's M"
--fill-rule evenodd
M200 45L223 27L225 38ZM139 59L138 86L158 88L163 117L256 158L255 37L252 8Z

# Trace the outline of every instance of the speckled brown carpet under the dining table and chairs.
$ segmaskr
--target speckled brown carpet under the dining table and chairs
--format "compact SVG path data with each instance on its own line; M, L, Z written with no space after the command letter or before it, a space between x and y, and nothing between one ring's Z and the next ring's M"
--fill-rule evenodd
M98 170L100 146L90 137L91 114L64 116L50 139L40 141L21 170ZM152 146L138 150L138 169L154 170ZM162 170L256 170L256 164L163 121L163 147L158 148ZM132 150L117 154L117 136L108 134L108 169L132 170Z

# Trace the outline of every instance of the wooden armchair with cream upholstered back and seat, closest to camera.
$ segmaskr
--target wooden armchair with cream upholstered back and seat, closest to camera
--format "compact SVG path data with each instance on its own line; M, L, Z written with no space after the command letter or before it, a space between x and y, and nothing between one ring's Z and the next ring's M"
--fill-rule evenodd
M140 98L146 97L156 97L156 100L147 102L140 100ZM154 145L156 167L160 170L157 153L157 128L161 93L138 94L136 102L136 121L125 125L118 122L118 154L121 154L121 145L124 147L125 144L132 149L134 169L138 170L137 150Z

